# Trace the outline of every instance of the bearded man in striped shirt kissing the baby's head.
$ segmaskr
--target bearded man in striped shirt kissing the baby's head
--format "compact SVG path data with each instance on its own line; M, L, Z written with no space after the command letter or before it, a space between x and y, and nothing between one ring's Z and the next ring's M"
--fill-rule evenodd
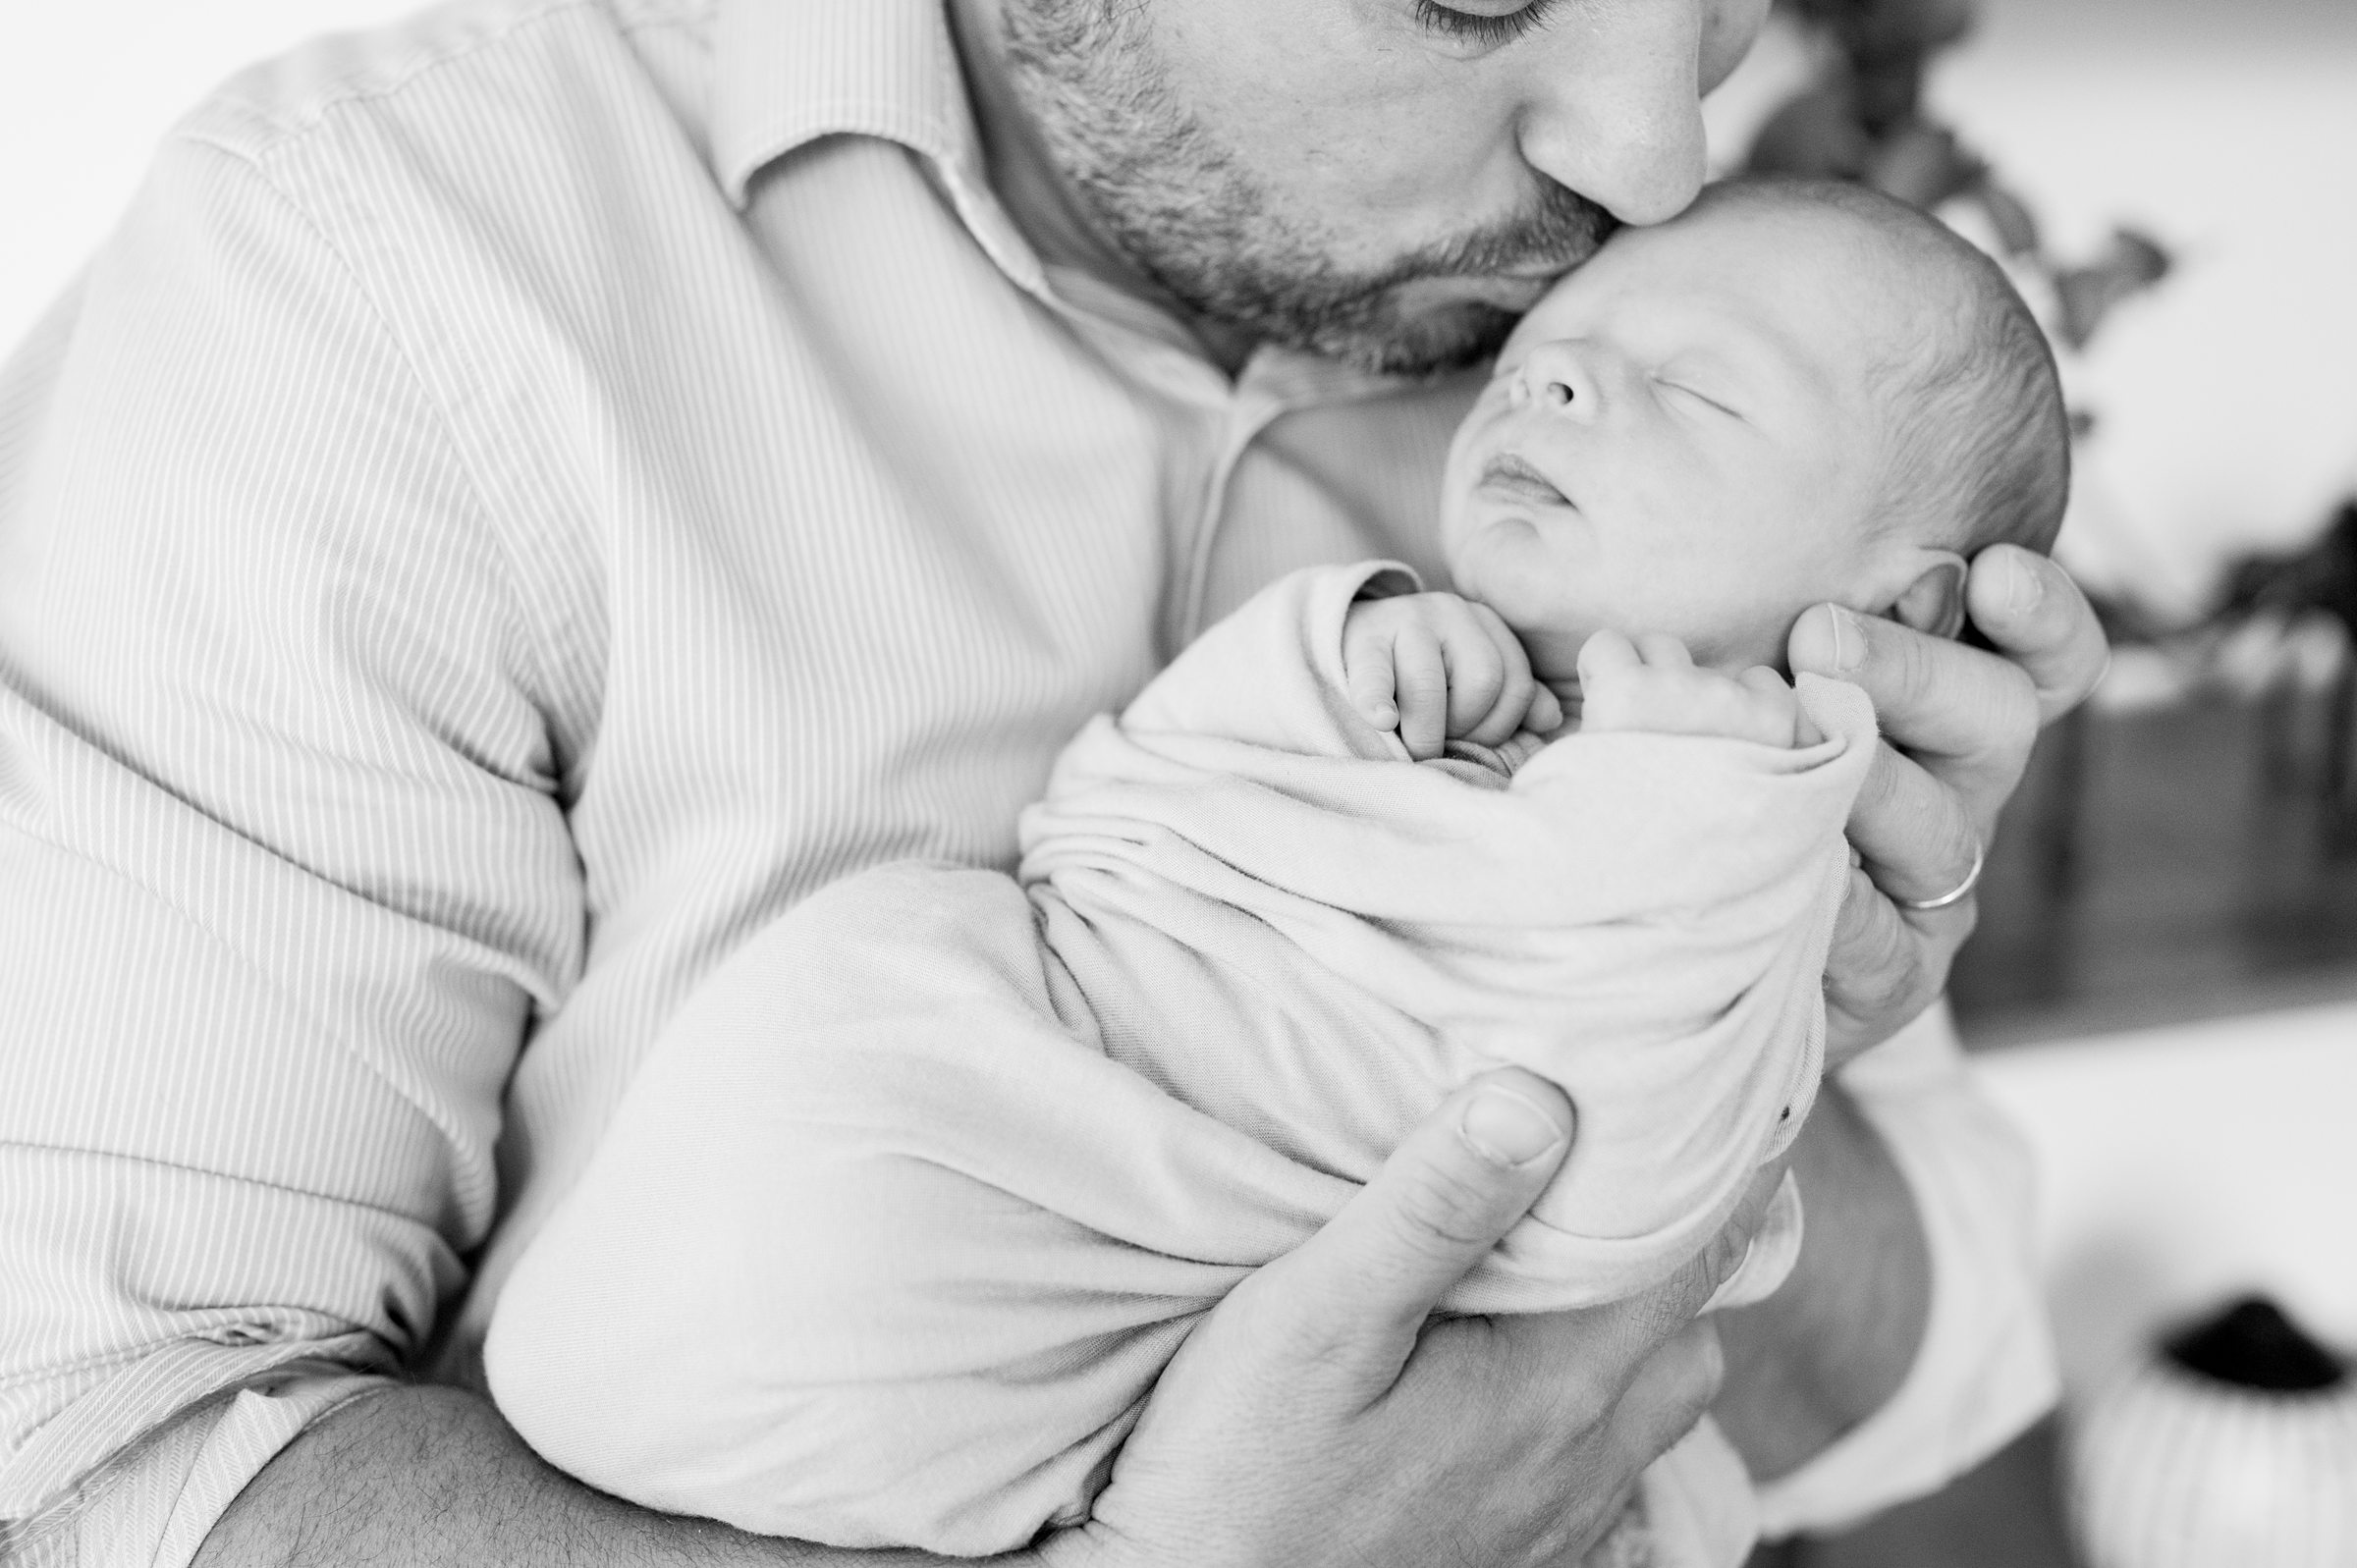
M0 387L7 1540L827 1561L587 1493L467 1391L523 1238L761 920L1009 863L1209 618L1428 561L1447 365L1692 198L1761 9L469 0L198 108ZM2102 660L2039 559L1970 604L2003 655L1794 634L1914 750L1853 823L1843 1056L1937 993ZM1039 1554L1577 1561L1721 1356L1772 1521L1952 1474L2046 1368L2003 1148L1937 1047L1883 1080L1824 1096L1796 1280L1723 1330L1739 1228L1622 1309L1426 1327L1574 1137L1468 1085Z

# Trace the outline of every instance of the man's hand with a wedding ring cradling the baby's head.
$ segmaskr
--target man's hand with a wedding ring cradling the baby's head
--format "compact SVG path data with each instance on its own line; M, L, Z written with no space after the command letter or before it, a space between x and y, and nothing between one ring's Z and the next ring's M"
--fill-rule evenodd
M1940 898L1973 875L2039 726L2086 700L2110 663L2086 597L2029 549L1980 552L1966 606L1996 653L1827 604L1791 632L1794 672L1864 686L1888 740L1850 813L1864 865L1824 969L1829 1068L1888 1040L1947 988L1973 934L1973 898L1940 910L1893 898Z

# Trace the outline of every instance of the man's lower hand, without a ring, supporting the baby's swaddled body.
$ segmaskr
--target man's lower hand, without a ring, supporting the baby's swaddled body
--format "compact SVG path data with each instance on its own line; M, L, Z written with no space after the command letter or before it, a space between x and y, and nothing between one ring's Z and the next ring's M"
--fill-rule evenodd
M1513 1068L1457 1096L1301 1250L1195 1330L1049 1568L1577 1563L1718 1389L1695 1311L1780 1172L1706 1257L1633 1302L1428 1320L1539 1195L1570 1106Z

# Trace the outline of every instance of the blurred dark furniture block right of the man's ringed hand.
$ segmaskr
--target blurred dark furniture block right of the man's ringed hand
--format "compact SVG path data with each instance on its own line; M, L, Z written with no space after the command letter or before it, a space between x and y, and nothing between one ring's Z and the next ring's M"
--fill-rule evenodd
M2121 644L2119 674L2161 651ZM1968 1047L2357 995L2357 854L2319 780L2336 689L2216 679L2048 729L1949 997Z

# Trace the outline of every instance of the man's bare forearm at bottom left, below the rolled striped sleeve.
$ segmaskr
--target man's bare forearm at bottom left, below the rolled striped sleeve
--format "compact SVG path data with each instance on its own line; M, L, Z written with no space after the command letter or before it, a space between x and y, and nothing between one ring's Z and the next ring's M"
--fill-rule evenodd
M839 1551L651 1514L549 1469L488 1401L403 1386L306 1429L247 1483L198 1568L915 1568L922 1551Z

